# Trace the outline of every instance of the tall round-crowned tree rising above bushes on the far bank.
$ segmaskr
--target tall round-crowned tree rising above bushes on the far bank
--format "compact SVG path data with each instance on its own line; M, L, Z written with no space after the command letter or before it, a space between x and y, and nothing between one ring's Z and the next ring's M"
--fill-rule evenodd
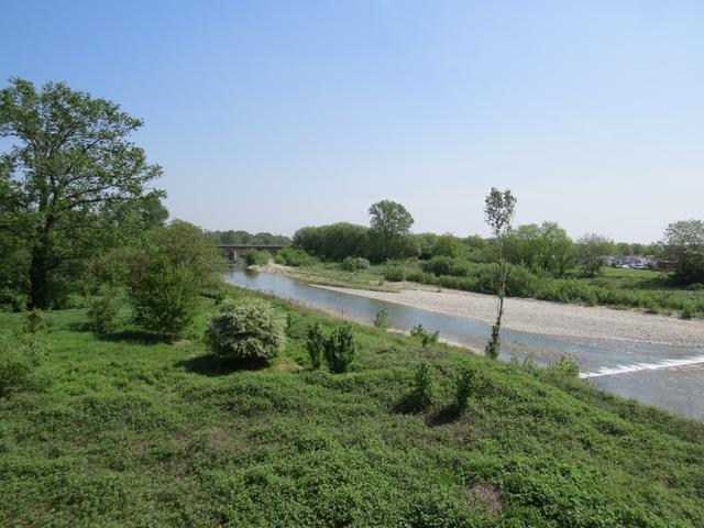
M414 217L406 208L392 200L382 200L370 207L371 235L382 261L400 256L404 238L409 234Z

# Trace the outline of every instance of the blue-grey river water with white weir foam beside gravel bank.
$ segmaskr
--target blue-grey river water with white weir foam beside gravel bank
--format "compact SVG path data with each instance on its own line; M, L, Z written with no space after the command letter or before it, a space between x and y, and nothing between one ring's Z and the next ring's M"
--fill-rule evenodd
M440 330L449 341L482 350L490 326L465 317L436 314L394 302L332 292L284 275L232 268L226 278L238 286L332 311L358 322L371 323L385 308L392 328L410 330L420 323ZM563 354L580 365L581 376L596 387L668 410L704 420L704 349L664 346L642 342L551 337L502 329L502 355L519 359L536 354L546 364Z

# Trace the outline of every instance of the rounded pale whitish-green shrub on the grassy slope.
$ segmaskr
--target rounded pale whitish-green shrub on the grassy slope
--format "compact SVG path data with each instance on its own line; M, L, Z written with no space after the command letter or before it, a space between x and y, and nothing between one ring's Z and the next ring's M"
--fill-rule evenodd
M268 363L284 350L284 319L262 299L227 301L208 321L205 340L222 358Z

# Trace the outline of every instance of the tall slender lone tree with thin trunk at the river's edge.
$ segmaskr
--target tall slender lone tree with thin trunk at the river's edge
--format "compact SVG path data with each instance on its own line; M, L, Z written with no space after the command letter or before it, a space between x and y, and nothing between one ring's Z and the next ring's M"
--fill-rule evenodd
M502 317L504 316L504 298L506 297L506 279L508 275L508 267L504 255L504 240L508 233L510 233L510 222L514 218L515 210L516 198L510 194L510 190L506 189L501 191L492 187L491 193L484 200L484 217L494 235L498 257L496 322L492 327L492 338L484 349L484 353L492 359L498 358L502 348Z

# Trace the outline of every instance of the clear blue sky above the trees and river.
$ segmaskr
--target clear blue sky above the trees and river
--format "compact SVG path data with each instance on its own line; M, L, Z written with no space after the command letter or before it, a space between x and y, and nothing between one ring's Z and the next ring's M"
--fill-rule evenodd
M118 101L172 215L293 233L405 204L649 242L704 217L704 2L3 2L0 81Z

